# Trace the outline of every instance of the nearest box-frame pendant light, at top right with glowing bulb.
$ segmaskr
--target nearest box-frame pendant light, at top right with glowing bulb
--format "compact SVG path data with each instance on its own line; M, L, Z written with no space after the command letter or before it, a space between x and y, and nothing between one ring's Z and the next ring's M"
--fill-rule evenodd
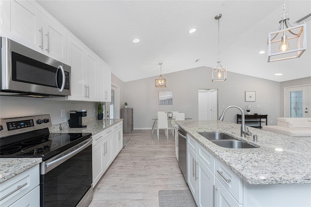
M307 49L306 23L292 26L288 22L285 0L281 18L277 31L268 34L268 62L297 58Z

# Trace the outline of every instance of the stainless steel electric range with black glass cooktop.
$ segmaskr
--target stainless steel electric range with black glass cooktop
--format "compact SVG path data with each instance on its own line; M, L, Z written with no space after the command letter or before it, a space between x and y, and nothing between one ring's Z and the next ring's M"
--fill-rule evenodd
M0 158L42 157L40 206L88 206L93 197L91 133L49 133L50 115L0 119Z

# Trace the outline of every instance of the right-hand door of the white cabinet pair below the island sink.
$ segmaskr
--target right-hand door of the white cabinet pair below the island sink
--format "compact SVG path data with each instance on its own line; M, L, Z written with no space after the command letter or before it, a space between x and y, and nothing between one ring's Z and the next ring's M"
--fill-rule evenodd
M211 207L213 205L214 174L208 170L199 157L197 160L197 205Z

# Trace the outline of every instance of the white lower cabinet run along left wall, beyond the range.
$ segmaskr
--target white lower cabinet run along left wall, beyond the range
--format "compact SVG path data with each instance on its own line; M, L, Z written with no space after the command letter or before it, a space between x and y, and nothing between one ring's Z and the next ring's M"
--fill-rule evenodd
M118 136L115 137L113 130L116 126ZM92 136L93 188L122 149L119 147L119 142L123 142L123 134L118 131L120 126L122 130L122 122L119 122Z

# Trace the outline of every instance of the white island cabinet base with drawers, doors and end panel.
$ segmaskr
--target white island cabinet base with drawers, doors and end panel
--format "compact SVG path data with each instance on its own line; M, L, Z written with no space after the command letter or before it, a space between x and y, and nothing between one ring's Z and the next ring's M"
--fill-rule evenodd
M188 186L198 207L310 207L311 184L249 184L187 135Z

